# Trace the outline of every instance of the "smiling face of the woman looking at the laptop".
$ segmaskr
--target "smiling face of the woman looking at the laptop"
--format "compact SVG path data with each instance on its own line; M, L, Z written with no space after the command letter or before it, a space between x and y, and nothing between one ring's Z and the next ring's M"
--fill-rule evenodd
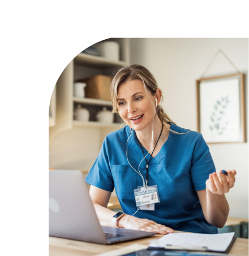
M141 131L153 120L156 96L152 96L140 79L127 81L118 87L118 113L124 123L135 131ZM154 104L152 104L152 102Z

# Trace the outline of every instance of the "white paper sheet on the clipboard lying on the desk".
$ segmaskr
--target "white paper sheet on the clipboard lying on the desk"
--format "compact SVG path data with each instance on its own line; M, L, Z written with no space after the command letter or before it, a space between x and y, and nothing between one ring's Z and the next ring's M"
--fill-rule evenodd
M224 234L173 233L153 240L149 246L165 247L166 245L184 248L207 247L212 251L225 251L233 240L234 232Z

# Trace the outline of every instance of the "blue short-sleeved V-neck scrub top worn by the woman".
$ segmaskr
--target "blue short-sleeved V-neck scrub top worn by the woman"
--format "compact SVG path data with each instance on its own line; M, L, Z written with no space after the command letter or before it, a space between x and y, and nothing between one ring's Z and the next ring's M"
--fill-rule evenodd
M170 129L185 133L189 130L170 124ZM115 187L122 210L128 215L137 211L134 189L143 186L138 166L143 159L135 131L128 140L128 160L126 142L131 129L126 125L105 137L100 153L85 181L106 191ZM144 155L148 151L143 148ZM147 161L151 155L148 154ZM209 148L198 132L184 135L169 132L168 140L162 145L156 157L149 162L148 186L157 185L160 203L155 211L139 210L134 216L153 220L174 230L217 234L215 226L209 224L203 215L196 191L206 188L210 173L216 171ZM140 165L140 172L146 178L146 162Z

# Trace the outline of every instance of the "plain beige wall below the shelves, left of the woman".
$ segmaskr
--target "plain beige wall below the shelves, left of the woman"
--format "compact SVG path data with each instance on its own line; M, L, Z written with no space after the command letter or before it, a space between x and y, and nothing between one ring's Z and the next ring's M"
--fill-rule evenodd
M105 135L115 128L72 128L59 132L49 146L49 168L89 171Z

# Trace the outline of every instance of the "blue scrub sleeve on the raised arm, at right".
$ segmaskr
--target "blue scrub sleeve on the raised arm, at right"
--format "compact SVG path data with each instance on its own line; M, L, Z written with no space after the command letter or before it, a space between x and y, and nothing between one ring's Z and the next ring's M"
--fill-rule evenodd
M203 136L200 134L196 141L191 159L191 179L196 191L206 188L209 174L216 171L209 148Z

